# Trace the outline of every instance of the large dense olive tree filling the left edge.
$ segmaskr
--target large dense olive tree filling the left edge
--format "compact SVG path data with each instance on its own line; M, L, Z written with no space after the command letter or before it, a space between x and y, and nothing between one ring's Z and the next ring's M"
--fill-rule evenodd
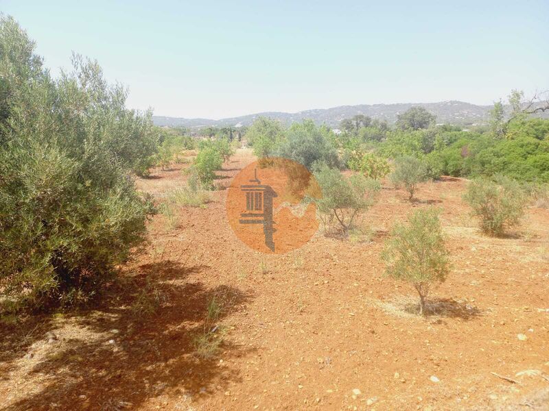
M131 171L156 149L151 113L124 106L96 62L51 79L34 42L0 16L0 301L73 303L100 290L152 212Z

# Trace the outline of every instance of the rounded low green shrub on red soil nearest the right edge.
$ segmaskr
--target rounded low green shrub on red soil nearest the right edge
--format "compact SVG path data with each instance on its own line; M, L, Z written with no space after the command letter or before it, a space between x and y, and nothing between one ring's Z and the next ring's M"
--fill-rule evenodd
M520 223L528 200L518 182L499 176L492 181L479 178L467 187L463 199L480 219L480 228L491 236L500 236Z

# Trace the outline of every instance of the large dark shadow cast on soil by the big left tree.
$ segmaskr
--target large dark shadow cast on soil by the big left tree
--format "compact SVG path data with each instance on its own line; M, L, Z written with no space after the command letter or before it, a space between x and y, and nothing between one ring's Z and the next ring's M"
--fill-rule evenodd
M194 338L204 332L207 305L214 296L226 297L218 321L244 308L252 296L232 286L207 288L189 281L189 275L203 269L161 261L141 265L137 274L113 284L100 307L71 316L71 323L82 332L60 338L32 367L31 375L46 381L43 389L2 410L139 408L161 395L175 399L208 395L241 381L226 360L253 348L226 338L220 346L225 362L220 364L215 356L198 358ZM148 307L148 293L152 306L156 305L152 314L136 310L143 294ZM43 336L51 329L45 322L36 334ZM63 335L61 328L56 332ZM19 358L25 347L30 342L19 347ZM18 359L12 356L11 360Z

